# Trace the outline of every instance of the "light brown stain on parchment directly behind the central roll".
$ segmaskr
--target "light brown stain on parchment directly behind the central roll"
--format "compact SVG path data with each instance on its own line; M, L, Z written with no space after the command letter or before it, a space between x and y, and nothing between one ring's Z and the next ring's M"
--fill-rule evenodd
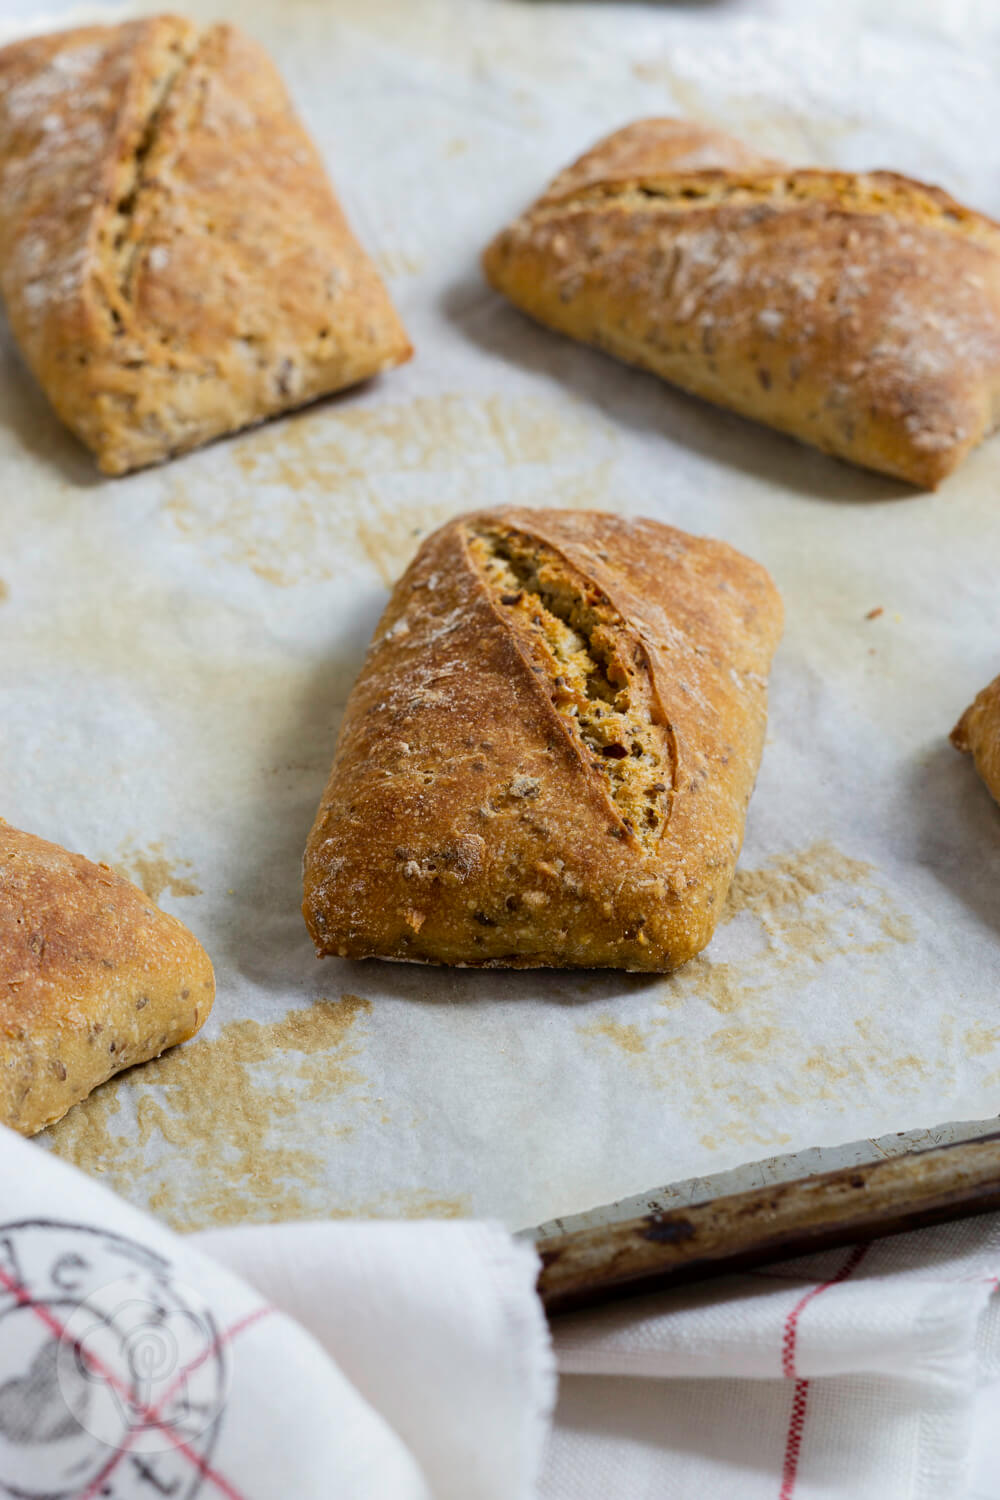
M613 429L586 408L516 396L421 396L312 408L235 438L162 518L210 561L279 588L357 572L391 584L423 536L481 506L607 502Z

